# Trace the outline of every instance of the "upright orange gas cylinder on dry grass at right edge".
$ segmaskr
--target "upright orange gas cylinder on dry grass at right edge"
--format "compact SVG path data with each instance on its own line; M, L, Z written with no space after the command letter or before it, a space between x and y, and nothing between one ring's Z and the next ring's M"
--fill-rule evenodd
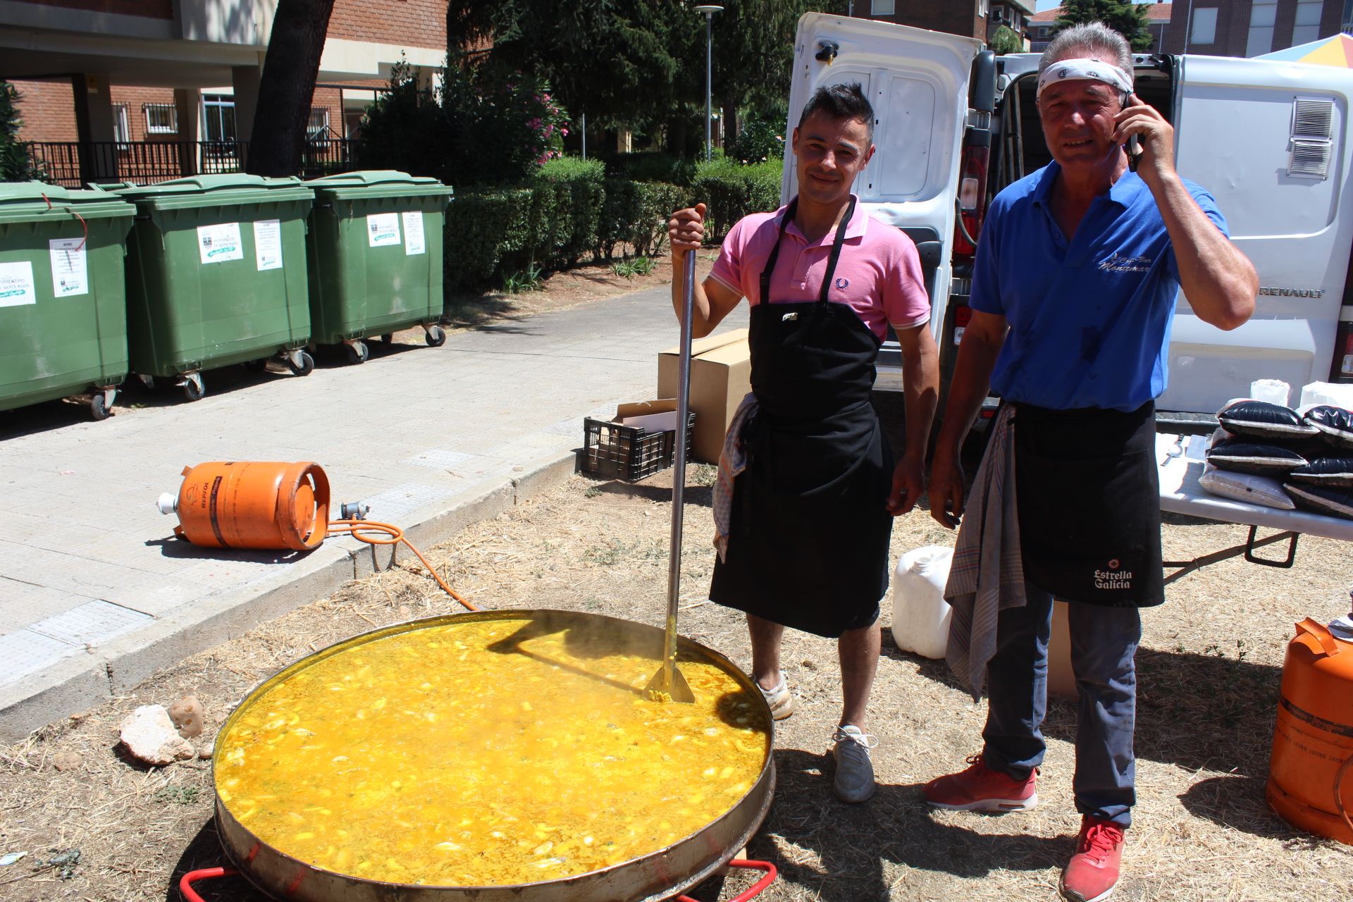
M1292 826L1353 845L1353 614L1306 618L1283 663L1268 802Z

